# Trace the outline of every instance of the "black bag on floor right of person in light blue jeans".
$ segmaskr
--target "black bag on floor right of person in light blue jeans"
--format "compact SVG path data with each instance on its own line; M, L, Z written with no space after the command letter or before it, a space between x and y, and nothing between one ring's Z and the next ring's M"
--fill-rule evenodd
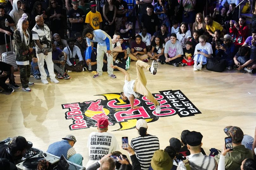
M227 61L218 58L210 58L206 69L214 72L223 72L227 67Z

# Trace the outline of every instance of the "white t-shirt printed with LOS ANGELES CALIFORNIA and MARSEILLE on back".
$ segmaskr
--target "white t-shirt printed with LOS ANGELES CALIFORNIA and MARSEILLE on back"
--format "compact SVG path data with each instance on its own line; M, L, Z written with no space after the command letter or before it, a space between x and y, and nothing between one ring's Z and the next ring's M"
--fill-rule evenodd
M86 168L100 160L103 156L119 150L117 139L108 132L92 132L87 141L89 149L89 161Z

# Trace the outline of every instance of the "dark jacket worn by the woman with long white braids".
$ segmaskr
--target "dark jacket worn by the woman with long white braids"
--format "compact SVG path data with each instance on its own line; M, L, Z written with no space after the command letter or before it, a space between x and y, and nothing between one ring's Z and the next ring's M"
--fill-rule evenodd
M24 61L29 60L29 62L31 62L33 53L28 53L25 55L22 54L24 51L29 50L30 47L31 48L33 47L32 34L29 31L29 29L27 29L27 31L29 32L29 45L28 46L24 42L21 41L21 35L18 32L18 30L16 29L14 31L16 61L24 62Z

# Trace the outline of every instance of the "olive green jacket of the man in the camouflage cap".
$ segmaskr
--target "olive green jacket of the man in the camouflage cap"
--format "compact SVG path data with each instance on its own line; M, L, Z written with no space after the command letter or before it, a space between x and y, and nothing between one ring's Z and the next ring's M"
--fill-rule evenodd
M214 156L217 163L219 163L220 154ZM226 170L241 170L242 161L246 158L253 159L253 152L245 148L244 145L235 146L233 152L227 152L225 155L225 169Z

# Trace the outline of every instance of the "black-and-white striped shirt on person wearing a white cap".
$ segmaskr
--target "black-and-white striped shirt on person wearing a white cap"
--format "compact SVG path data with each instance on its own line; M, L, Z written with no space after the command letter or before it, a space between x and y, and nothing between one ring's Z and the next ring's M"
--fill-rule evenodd
M159 140L150 134L139 136L131 140L131 148L136 152L141 169L148 170L154 152L159 149Z

